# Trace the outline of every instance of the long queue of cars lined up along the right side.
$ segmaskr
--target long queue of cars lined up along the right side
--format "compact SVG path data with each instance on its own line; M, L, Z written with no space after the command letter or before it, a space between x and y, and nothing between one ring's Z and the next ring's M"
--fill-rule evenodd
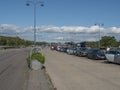
M65 52L69 55L86 57L88 59L106 60L107 62L120 64L120 50L103 51L99 48L87 48L79 46L52 46L51 50Z

